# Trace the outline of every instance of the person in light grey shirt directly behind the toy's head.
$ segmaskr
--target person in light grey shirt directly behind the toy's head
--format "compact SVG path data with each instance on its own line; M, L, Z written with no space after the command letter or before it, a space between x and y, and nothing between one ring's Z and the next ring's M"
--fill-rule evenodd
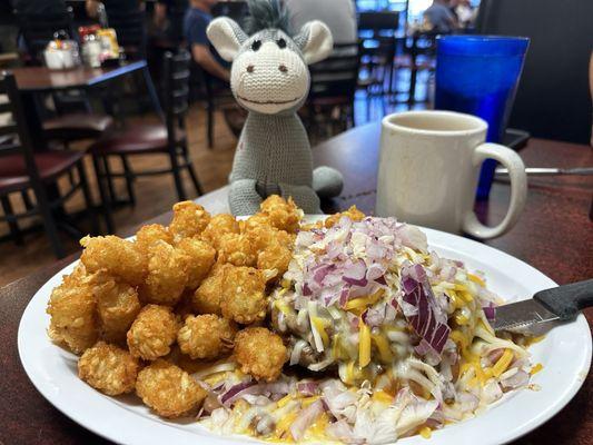
M320 20L332 31L334 43L358 41L356 8L353 0L285 0L295 32L308 21Z

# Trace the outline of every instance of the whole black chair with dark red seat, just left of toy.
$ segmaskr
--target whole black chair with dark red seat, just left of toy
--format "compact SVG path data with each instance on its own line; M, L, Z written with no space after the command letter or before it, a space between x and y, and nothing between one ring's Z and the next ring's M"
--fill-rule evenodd
M202 189L194 165L189 157L185 118L189 99L189 62L191 56L186 50L177 55L165 55L165 121L158 123L137 123L123 129L111 131L90 147L95 170L99 182L99 191L105 211L110 219L111 206L116 200L112 179L126 180L129 201L135 204L134 181L137 177L171 174L179 200L186 200L181 172L187 170L196 192ZM156 170L134 170L128 162L129 157L138 155L166 155L170 166ZM125 161L122 172L112 172L109 159L119 157ZM109 222L112 227L112 222Z

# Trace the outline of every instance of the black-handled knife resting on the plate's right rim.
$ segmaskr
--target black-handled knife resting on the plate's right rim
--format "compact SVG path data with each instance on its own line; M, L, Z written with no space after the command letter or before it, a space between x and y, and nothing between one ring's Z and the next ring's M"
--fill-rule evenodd
M498 306L492 327L496 332L538 336L576 318L593 306L593 279L541 290L532 299Z

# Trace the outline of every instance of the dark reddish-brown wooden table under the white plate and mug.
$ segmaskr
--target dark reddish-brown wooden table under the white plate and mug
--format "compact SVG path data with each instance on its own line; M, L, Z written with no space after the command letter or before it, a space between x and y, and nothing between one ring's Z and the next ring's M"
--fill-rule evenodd
M359 127L315 148L316 164L339 168L346 187L343 195L326 204L326 210L344 209L356 204L372 212L375 202L378 125ZM532 167L591 167L590 147L533 139L522 151ZM213 212L225 211L227 189L198 199ZM506 209L508 186L497 182L488 202L478 204L481 218L495 222ZM505 236L487 241L548 275L560 284L593 277L593 222L589 209L593 197L593 178L530 179L525 212L517 226ZM167 224L170 212L154 221ZM121 233L128 235L136 228ZM105 443L60 414L37 393L27 378L18 357L17 330L29 299L41 285L76 256L56 263L0 288L0 444L95 444ZM593 310L585 312L590 325ZM586 378L574 399L553 419L520 445L593 444L593 379ZM484 432L488 434L488 432ZM461 441L459 443L463 443ZM428 444L428 443L427 443Z

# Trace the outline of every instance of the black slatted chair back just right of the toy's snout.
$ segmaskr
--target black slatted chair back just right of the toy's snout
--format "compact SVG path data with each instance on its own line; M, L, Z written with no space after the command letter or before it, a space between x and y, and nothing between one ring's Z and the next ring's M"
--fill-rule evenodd
M345 102L354 102L359 63L358 43L336 43L330 57L309 67L309 99L344 98Z

